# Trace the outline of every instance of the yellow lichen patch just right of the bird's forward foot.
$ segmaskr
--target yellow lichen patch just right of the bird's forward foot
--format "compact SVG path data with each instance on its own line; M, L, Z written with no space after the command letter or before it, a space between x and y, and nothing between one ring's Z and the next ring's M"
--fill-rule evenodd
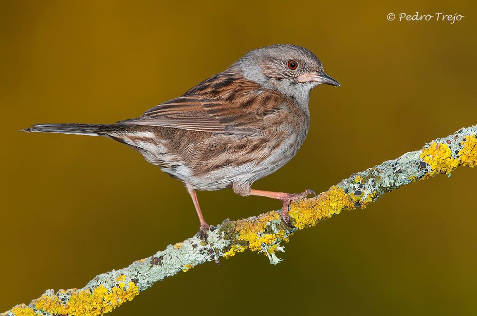
M329 191L313 199L292 203L290 216L294 218L294 226L298 229L316 225L320 220L339 214L343 209L354 209L343 188L333 186Z

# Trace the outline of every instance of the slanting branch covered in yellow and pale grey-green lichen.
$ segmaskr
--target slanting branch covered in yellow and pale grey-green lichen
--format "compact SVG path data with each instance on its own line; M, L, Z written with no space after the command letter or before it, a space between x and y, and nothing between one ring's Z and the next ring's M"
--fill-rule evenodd
M475 167L476 135L476 125L462 128L426 144L421 150L354 174L316 197L292 202L290 216L295 228L287 226L278 211L238 221L225 220L208 233L207 243L196 235L124 269L98 275L81 289L56 293L48 290L28 306L17 305L1 315L102 315L157 281L246 249L262 252L276 264L280 259L275 253L283 250L282 243L288 242L298 229L314 226L343 210L365 208L383 194L410 182L437 174L450 176L460 165Z

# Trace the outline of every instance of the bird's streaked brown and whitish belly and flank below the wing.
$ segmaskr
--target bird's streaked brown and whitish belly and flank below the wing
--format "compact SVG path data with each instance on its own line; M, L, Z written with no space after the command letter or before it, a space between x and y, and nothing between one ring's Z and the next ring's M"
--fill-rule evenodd
M140 140L123 135L123 142L193 189L209 191L229 188L237 181L252 184L270 175L294 157L305 135L237 139L236 135L221 134L200 143L191 142L194 150L191 149L190 155L175 152L166 140L144 132Z

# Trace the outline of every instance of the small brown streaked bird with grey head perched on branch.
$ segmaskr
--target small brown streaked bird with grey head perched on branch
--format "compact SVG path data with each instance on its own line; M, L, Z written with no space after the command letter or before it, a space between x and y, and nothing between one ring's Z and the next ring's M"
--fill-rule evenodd
M323 72L312 52L272 45L246 53L227 70L141 117L115 124L39 124L22 131L107 136L137 150L184 182L203 236L209 226L196 190L232 187L242 196L279 199L282 219L290 224L290 202L311 190L289 194L250 185L294 157L310 125L310 91L322 83L340 85Z

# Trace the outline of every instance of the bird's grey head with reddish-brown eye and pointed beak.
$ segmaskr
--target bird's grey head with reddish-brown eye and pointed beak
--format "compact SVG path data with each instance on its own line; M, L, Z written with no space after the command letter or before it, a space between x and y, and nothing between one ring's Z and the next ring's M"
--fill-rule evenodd
M308 106L310 91L319 84L340 85L323 71L323 64L312 52L290 44L250 51L229 69L239 70L246 79L294 98L300 106Z

